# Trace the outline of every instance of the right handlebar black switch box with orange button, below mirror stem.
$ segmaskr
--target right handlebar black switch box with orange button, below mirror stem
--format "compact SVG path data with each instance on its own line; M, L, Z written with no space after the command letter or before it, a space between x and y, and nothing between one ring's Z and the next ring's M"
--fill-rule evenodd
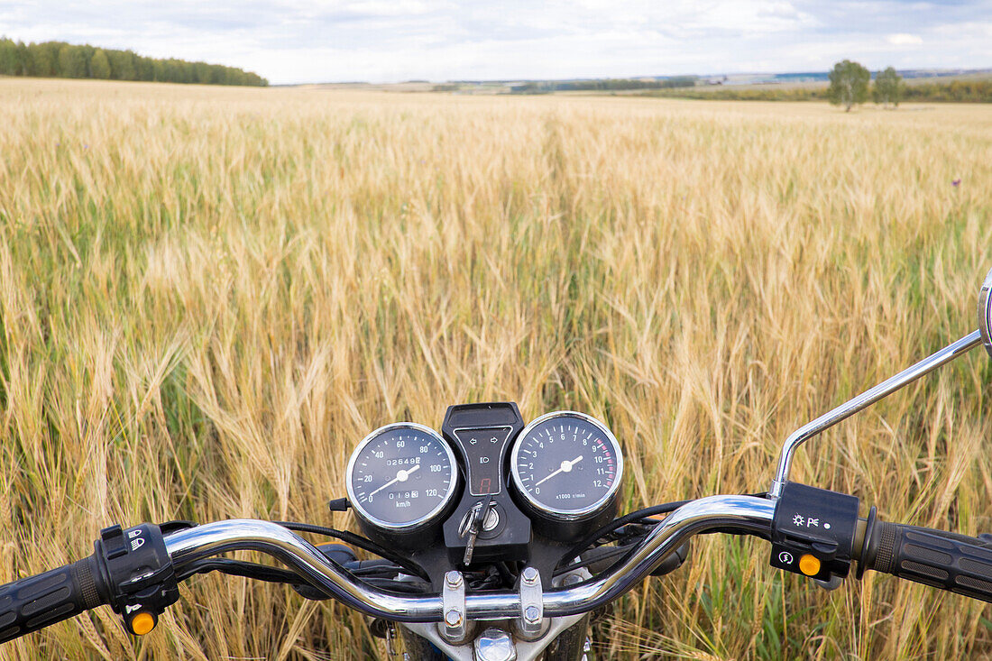
M851 569L859 501L787 482L772 522L772 567L836 585Z

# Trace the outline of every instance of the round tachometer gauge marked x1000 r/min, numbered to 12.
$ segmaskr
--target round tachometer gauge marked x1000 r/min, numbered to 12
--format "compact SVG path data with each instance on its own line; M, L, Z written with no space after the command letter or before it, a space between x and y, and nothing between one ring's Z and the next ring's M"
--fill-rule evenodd
M560 519L600 511L623 474L620 445L606 426L572 411L549 413L528 425L510 461L518 492L533 507Z

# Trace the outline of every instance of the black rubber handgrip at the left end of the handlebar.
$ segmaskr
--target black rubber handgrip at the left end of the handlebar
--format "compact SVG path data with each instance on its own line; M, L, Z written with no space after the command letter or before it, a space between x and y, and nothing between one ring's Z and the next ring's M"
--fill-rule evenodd
M55 624L104 603L92 556L0 587L0 642Z

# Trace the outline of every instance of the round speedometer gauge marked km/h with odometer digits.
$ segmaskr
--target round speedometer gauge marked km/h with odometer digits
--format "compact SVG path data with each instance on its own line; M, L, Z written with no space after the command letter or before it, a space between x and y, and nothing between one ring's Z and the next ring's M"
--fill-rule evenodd
M434 430L413 423L387 425L365 437L351 455L348 498L366 522L392 531L428 525L454 497L454 454Z

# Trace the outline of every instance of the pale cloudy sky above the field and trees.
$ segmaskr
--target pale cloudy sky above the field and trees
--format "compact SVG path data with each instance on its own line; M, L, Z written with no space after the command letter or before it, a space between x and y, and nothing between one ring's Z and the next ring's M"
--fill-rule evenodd
M0 0L0 35L273 83L992 67L992 0Z

